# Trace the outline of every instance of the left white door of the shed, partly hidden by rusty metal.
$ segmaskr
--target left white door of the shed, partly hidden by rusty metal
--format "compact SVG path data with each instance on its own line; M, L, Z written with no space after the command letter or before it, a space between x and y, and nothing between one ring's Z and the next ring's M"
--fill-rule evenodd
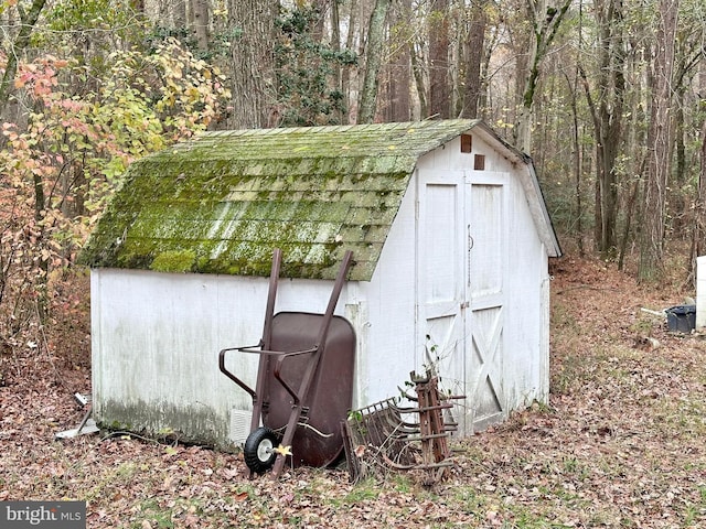
M466 391L464 177L462 172L419 173L418 201L418 369L434 366L440 386ZM461 404L454 410L466 431Z

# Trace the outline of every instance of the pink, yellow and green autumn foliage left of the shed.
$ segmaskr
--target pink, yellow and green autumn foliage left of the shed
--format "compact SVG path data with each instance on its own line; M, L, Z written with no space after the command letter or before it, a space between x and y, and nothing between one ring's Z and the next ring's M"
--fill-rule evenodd
M1 125L6 348L46 346L38 331L53 280L67 271L127 165L204 130L229 98L217 68L175 40L108 58L109 68L96 71L53 55L18 66L15 102L28 107L25 118Z

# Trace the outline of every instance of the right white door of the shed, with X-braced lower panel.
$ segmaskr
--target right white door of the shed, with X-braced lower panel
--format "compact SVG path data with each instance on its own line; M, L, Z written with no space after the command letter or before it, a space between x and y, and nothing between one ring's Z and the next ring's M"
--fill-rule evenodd
M473 431L502 421L503 327L506 246L506 175L470 172L467 179L467 292L469 298L467 345L467 400Z

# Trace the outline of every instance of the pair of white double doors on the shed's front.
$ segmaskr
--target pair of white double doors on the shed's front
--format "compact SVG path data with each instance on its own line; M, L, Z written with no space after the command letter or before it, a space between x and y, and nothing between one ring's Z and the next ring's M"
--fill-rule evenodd
M461 433L505 417L503 278L509 175L422 171L417 180L418 364L434 366L443 391L463 395Z

